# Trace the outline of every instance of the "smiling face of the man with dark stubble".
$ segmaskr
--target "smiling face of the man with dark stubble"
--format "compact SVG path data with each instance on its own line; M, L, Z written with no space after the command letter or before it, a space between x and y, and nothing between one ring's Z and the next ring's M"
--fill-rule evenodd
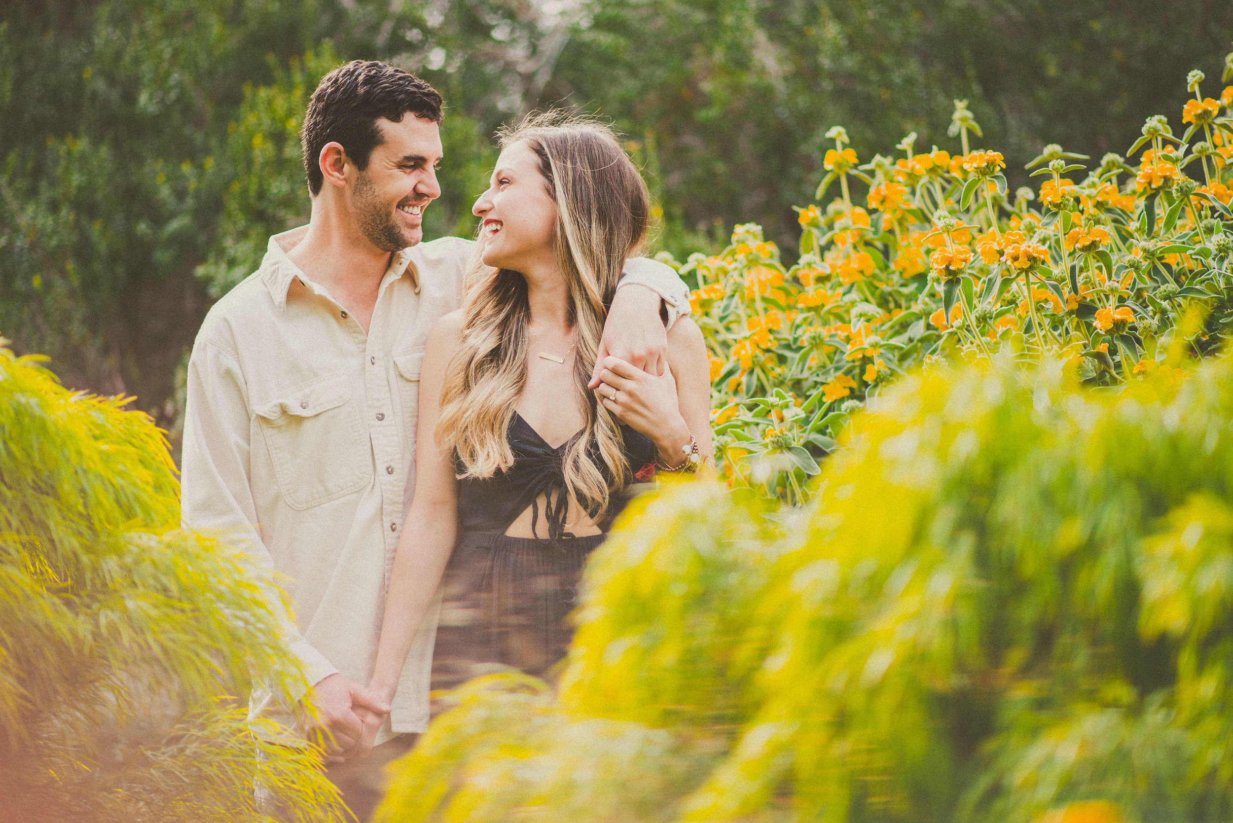
M441 136L436 123L409 112L398 123L382 117L377 129L381 144L356 171L351 213L372 245L399 251L424 239L424 208L441 193Z

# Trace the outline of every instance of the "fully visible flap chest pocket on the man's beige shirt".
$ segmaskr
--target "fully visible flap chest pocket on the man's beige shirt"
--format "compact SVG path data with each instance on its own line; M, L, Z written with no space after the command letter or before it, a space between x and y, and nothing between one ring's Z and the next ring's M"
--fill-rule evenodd
M372 480L369 439L345 376L290 389L256 410L279 490L302 510Z

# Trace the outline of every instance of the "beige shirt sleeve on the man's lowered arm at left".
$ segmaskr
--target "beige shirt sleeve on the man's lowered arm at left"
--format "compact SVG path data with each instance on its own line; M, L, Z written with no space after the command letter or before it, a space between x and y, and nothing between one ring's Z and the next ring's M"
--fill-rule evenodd
M189 359L189 399L180 473L181 519L186 529L226 533L248 551L285 642L303 667L307 685L338 669L300 633L281 591L270 579L274 561L256 529L249 483L252 418L239 365L219 347L197 341ZM291 695L300 700L300 694Z

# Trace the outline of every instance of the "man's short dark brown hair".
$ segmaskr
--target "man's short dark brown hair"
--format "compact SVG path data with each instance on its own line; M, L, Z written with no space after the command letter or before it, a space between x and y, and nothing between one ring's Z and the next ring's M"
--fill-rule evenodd
M301 137L308 191L321 192L322 147L342 144L364 171L372 149L381 145L377 118L397 123L407 112L441 122L441 95L409 71L376 60L351 60L322 78L308 102Z

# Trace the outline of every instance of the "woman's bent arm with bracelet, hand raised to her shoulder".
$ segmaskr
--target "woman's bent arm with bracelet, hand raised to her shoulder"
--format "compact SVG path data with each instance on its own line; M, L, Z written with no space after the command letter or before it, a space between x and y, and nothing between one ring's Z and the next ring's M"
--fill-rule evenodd
M668 366L662 377L649 375L619 357L605 357L598 393L616 418L650 437L668 466L686 460L681 447L693 435L698 451L710 458L710 362L702 330L681 318L668 331ZM615 393L615 399L613 394Z

